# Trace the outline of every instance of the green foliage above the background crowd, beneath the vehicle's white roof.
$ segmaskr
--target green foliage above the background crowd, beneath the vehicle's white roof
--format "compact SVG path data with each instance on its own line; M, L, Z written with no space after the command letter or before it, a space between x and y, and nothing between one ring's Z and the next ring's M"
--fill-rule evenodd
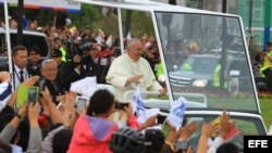
M100 7L92 7L82 4L82 11L78 14L70 14L72 24L77 27L91 26L92 28L100 28L106 35L119 36L118 14L115 9L110 9L108 16L101 14ZM122 11L123 33L125 29L126 11ZM133 37L141 37L145 33L154 34L152 21L149 13L133 12L131 33ZM125 35L125 34L124 34ZM126 36L124 36L126 37Z

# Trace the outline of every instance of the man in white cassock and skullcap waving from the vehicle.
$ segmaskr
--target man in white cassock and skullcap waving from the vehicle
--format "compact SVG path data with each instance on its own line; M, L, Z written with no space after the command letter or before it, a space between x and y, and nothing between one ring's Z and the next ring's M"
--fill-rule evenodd
M165 94L165 89L156 80L154 74L141 54L144 46L139 39L132 39L125 54L113 61L106 77L107 82L115 88L115 97L123 102L123 95L128 90L159 91Z

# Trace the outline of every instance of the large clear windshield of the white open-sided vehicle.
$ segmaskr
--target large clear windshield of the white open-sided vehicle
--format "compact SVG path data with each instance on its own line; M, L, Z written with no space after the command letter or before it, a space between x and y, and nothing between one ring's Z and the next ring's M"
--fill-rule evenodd
M258 112L238 17L156 12L175 93L201 93L208 110Z

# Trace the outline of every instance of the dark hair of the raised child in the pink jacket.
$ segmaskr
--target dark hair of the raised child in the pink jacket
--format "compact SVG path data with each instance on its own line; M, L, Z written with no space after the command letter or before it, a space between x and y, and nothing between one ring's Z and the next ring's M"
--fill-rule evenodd
M89 100L87 115L94 116L106 113L114 103L114 95L106 90L97 90Z

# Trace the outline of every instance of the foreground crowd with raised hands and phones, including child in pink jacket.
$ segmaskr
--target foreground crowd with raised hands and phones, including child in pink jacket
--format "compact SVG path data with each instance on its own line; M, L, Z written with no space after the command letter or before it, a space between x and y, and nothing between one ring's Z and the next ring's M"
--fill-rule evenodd
M1 73L1 86L10 84L9 76L9 73ZM34 76L21 86L34 86L38 80L39 77ZM7 90L11 92L11 89ZM89 105L81 112L75 109L76 93L73 92L64 94L62 109L57 107L48 88L40 92L35 103L26 102L20 106L15 106L16 94L16 90L11 93L0 112L0 149L4 152L189 153L191 148L182 144L199 126L197 122L185 122L176 129L168 123L168 133L164 135L160 129L149 128L157 124L157 115L138 124L132 105L115 110L116 99L106 89L97 90ZM113 122L112 114L116 111L121 116ZM220 130L213 122L202 124L197 153L238 152L236 145L224 143L234 127L230 114L224 111L220 120ZM219 135L208 148L209 138L214 132Z

